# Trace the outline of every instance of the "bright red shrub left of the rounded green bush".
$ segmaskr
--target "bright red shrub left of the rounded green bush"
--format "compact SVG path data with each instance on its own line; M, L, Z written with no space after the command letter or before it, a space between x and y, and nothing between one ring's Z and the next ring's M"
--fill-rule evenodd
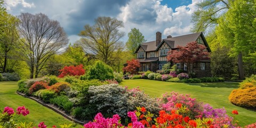
M83 69L83 65L78 66L65 66L60 70L60 75L58 77L62 78L64 76L80 76L85 74L85 70Z

